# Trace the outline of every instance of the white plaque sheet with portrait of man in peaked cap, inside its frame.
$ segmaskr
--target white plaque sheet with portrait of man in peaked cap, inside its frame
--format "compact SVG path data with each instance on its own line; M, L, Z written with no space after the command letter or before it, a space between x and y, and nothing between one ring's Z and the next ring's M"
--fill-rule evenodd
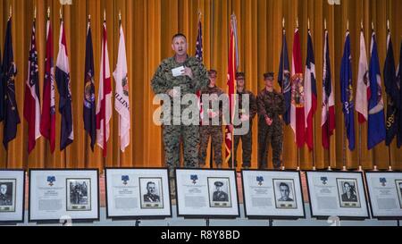
M180 217L206 219L239 216L234 170L177 168L176 193Z

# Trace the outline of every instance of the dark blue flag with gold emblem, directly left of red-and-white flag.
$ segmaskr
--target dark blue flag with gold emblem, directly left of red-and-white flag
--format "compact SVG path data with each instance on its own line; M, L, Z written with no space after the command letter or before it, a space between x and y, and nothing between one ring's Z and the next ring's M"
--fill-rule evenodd
M90 22L88 22L87 47L85 52L84 77L84 128L91 138L91 149L94 151L96 143L96 105L94 84L94 50Z

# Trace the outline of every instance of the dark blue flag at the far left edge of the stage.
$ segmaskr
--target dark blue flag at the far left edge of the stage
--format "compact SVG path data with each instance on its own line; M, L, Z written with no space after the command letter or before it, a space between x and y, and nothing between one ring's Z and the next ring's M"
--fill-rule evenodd
M13 56L13 40L12 40L12 21L7 21L7 29L5 30L5 45L3 58L3 84L4 84L4 137L3 144L5 149L8 143L15 139L17 135L17 125L20 121L17 102L15 100L15 76L17 75L17 67L14 63Z

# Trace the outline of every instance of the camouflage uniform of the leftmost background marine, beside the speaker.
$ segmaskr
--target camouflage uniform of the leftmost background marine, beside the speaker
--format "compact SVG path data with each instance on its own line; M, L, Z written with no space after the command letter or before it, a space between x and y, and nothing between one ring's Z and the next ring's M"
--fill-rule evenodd
M203 94L216 95L216 98L223 94L221 88L214 86L214 88L204 88L201 91L201 97ZM204 109L208 106L204 105ZM213 109L213 101L209 101L209 108ZM207 111L204 111L205 113ZM209 119L209 124L200 126L200 145L199 145L199 164L205 164L206 148L208 147L208 141L211 137L211 146L214 148L214 161L219 167L222 166L222 103L219 105L219 125L213 125L213 119ZM207 113L205 114L207 115Z

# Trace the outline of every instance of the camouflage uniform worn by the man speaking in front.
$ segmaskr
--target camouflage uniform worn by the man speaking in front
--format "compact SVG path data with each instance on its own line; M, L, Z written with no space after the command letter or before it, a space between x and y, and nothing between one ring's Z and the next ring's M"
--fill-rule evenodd
M180 66L191 68L193 80L188 76L173 77L172 69ZM205 88L208 84L208 75L203 63L197 58L188 56L184 63L177 63L175 57L170 57L159 65L151 80L155 94L167 94L172 88L180 87L180 97L186 94L195 94L197 90ZM173 103L171 103L171 116L173 121ZM181 112L188 105L181 105ZM180 165L180 139L183 142L184 165L194 168L198 166L198 125L163 125L164 161L169 168L169 174L174 177L174 168Z

